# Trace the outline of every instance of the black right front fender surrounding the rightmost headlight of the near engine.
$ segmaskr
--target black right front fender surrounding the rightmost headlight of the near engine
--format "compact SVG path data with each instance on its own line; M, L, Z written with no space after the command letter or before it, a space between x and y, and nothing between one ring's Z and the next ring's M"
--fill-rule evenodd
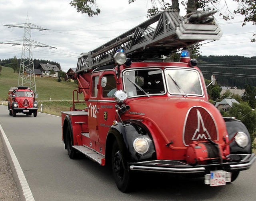
M235 140L233 140L230 143L230 154L252 153L252 143L251 143L250 133L246 128L246 126L242 123L242 121L231 118L231 117L223 117L223 118L226 123L229 140L231 140L237 132L244 132L249 138L249 143L244 148L239 147L236 144Z

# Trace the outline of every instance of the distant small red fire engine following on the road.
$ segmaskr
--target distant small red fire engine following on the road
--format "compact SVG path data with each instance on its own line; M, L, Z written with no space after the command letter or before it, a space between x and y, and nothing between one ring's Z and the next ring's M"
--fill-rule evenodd
M16 113L34 115L36 117L38 104L34 92L26 86L12 87L8 92L9 115L16 117Z

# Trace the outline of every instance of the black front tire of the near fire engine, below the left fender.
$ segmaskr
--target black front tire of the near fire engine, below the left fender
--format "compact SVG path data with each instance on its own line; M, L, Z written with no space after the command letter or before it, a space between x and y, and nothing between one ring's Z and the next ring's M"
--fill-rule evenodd
M113 143L111 157L112 172L116 186L123 193L130 191L132 186L132 175L126 168L124 168L123 156L120 152L117 141L114 141Z

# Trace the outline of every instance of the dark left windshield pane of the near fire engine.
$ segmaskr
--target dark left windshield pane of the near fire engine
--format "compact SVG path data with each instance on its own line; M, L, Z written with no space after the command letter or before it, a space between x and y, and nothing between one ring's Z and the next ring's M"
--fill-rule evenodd
M123 80L128 97L166 93L160 69L128 70L124 72Z

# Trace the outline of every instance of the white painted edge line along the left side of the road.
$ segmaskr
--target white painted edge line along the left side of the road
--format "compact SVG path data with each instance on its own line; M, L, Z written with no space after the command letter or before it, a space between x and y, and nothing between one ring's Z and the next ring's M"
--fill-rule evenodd
M20 163L11 147L11 144L10 144L6 134L4 133L4 129L2 128L1 124L0 124L0 134L2 137L3 144L7 148L7 150L5 149L6 155L8 154L10 156L12 163L14 165L14 168L11 167L12 172L16 171L16 174L18 176L18 182L20 183L20 186L22 187L22 194L25 197L25 200L26 201L34 201L34 197L32 195L30 187L28 186L28 182L25 178L25 175L20 167ZM9 162L10 162L10 160L9 160Z

